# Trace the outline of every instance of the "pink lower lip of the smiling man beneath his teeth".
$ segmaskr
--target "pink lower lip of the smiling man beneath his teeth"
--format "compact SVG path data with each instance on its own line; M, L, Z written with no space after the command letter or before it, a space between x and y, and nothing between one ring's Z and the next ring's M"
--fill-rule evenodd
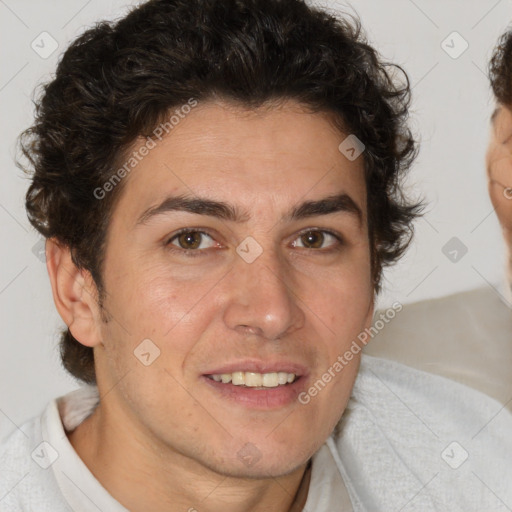
M297 396L304 389L304 375L295 379L291 384L275 388L255 389L246 386L223 384L206 376L201 377L206 384L226 400L253 409L279 409L297 401Z

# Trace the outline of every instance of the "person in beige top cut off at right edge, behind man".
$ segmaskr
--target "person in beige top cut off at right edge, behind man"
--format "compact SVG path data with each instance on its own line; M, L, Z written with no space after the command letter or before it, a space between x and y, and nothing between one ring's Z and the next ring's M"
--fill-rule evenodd
M454 379L512 410L512 30L496 44L489 77L496 105L485 166L507 251L503 283L404 306L365 353Z

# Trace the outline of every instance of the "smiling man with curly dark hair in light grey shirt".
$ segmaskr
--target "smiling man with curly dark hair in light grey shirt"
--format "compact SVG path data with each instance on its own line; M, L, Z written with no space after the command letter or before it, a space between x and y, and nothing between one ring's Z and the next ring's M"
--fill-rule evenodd
M295 0L154 0L71 45L23 147L63 363L90 386L1 449L3 508L491 503L440 453L494 402L367 358L349 403L418 212L390 76L357 25ZM511 425L466 467L509 476Z

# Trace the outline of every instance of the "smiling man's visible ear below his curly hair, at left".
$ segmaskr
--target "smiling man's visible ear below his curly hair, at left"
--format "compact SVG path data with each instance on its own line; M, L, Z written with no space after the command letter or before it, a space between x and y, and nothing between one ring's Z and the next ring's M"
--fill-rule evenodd
M46 268L55 306L73 337L87 347L99 345L98 290L90 272L79 270L69 248L55 239L46 240Z

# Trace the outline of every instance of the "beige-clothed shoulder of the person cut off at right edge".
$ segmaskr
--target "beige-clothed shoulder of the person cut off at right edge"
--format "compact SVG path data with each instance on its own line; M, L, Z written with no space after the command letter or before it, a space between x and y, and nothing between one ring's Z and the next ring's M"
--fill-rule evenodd
M364 352L447 377L506 405L511 332L512 309L487 287L406 304Z

